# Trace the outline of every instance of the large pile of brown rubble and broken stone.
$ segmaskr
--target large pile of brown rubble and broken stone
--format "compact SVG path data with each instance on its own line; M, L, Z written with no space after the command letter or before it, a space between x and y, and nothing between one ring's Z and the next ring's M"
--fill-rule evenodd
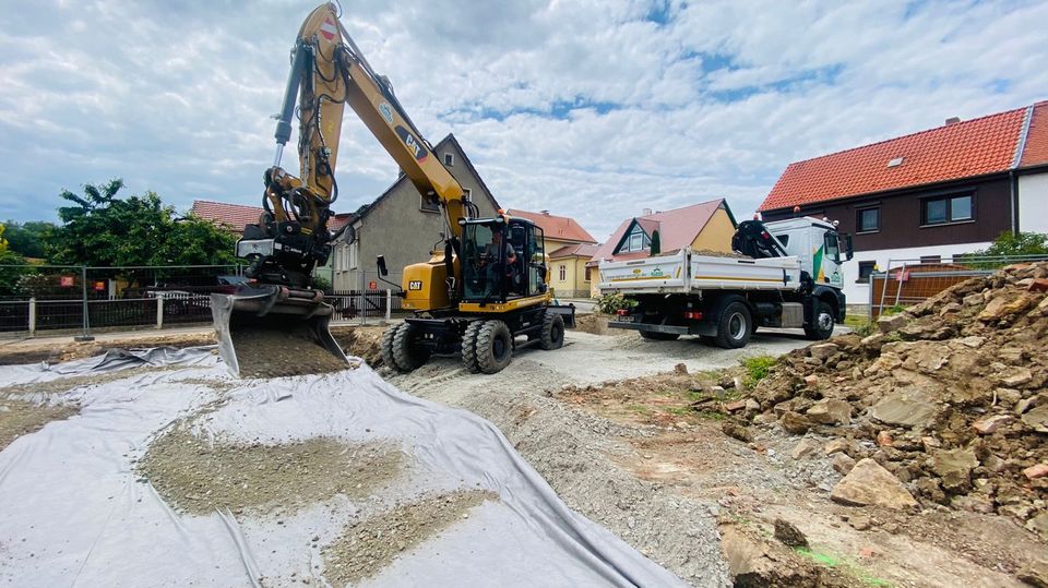
M862 488L890 472L878 485L896 507L998 513L1048 537L1046 278L1048 263L1009 266L882 316L880 333L798 349L747 419L834 437L837 502L876 503Z

